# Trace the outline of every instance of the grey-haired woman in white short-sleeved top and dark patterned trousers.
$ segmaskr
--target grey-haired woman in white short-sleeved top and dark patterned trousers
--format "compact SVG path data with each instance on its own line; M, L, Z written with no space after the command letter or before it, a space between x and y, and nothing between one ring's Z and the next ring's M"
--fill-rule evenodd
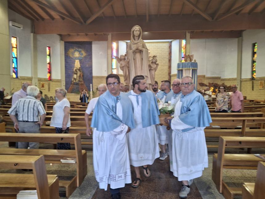
M56 133L68 133L70 122L70 102L66 98L67 91L63 88L55 89L55 97L59 99L52 109L50 126L55 127ZM57 143L57 149L71 149L70 143Z

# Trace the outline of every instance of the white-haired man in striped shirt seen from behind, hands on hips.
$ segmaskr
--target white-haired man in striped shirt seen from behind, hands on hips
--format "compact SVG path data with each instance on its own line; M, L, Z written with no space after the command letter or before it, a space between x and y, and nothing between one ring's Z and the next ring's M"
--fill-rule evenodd
M36 86L27 87L27 97L19 99L9 110L8 114L14 122L14 127L18 133L39 133L40 126L43 125L46 112L42 102L35 99L39 93ZM18 120L16 118L18 114ZM40 118L39 118L40 115ZM31 149L39 148L39 143L19 142L18 148Z

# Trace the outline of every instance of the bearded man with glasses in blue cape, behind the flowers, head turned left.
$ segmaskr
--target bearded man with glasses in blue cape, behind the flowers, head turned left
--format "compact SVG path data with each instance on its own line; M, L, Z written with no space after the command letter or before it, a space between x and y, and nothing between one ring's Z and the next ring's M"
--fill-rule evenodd
M158 93L157 98L163 103L170 101L173 95L173 91L170 89L170 81L161 81L160 90L161 91ZM159 158L160 160L165 160L168 157L168 154L166 153L166 144L169 143L168 131L169 130L166 129L166 126L157 126L158 142L162 146L162 154Z

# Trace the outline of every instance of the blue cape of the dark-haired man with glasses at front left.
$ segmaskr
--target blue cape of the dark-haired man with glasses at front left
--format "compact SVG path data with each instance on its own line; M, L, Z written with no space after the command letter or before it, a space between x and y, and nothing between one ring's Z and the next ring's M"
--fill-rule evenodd
M127 94L120 92L120 103L122 106L122 120L116 115L116 97L109 91L100 95L93 110L91 127L96 128L97 131L108 132L116 129L123 123L131 129L135 128L132 102Z

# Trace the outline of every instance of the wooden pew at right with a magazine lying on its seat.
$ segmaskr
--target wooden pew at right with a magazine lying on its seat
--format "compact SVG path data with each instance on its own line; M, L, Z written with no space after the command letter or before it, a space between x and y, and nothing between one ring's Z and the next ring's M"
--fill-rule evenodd
M262 159L254 154L225 154L225 148L263 148L265 137L233 137L220 136L218 154L213 155L212 180L216 188L224 197L234 198L234 195L241 195L241 188L231 188L222 180L224 169L256 169Z

